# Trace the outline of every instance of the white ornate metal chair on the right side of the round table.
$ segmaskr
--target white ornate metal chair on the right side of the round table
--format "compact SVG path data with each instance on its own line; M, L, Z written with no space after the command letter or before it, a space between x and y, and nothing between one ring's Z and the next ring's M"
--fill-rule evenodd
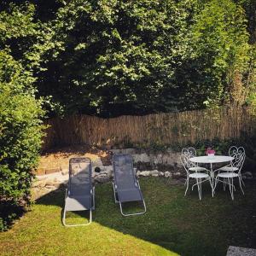
M224 166L216 170L215 172L218 172L216 179L215 179L215 185L214 190L216 189L217 183L222 182L224 183L224 190L226 184L229 185L230 188L230 195L232 200L234 200L234 190L236 190L233 178L238 177L239 185L242 194L244 195L243 189L241 187L241 183L244 185L244 182L241 178L241 167L243 166L244 160L246 158L245 150L242 147L237 148L236 146L232 146L229 149L229 154L234 158L230 165ZM221 180L221 178L223 180Z

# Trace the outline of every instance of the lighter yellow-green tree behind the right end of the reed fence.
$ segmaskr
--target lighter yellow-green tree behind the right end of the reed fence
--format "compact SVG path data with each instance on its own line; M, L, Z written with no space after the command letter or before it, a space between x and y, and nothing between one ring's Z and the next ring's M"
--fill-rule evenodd
M177 73L189 109L244 102L250 61L244 10L231 0L207 1L195 14L188 58ZM184 106L185 108L185 106Z

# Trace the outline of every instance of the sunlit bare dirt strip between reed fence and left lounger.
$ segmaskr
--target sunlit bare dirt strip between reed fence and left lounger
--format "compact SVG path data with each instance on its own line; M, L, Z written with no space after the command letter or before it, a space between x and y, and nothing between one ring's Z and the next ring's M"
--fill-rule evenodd
M61 169L68 167L68 161L73 157L89 157L91 160L100 157L104 166L111 165L111 152L88 145L73 145L72 147L53 148L42 154L36 173L42 175L50 172L60 172Z

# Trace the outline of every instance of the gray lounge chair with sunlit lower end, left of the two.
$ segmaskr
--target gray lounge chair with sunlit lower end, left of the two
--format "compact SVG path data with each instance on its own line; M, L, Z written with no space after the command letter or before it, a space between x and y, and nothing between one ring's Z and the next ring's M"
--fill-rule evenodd
M62 223L65 226L84 226L91 223L95 209L95 189L91 182L91 161L89 158L69 160L69 180L66 189L65 207ZM66 224L66 212L90 211L90 220L86 224Z

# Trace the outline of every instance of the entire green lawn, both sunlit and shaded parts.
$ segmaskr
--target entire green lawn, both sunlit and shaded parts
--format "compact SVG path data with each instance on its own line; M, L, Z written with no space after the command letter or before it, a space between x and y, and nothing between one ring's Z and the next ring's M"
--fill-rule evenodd
M0 254L221 256L230 245L256 247L256 183L247 182L246 195L237 187L235 201L222 188L212 198L207 184L199 201L196 189L184 197L183 185L165 178L140 183L146 214L122 217L111 185L97 184L93 223L84 227L62 226L63 190L45 195L0 234ZM84 212L77 213L67 215L70 223L84 221Z

